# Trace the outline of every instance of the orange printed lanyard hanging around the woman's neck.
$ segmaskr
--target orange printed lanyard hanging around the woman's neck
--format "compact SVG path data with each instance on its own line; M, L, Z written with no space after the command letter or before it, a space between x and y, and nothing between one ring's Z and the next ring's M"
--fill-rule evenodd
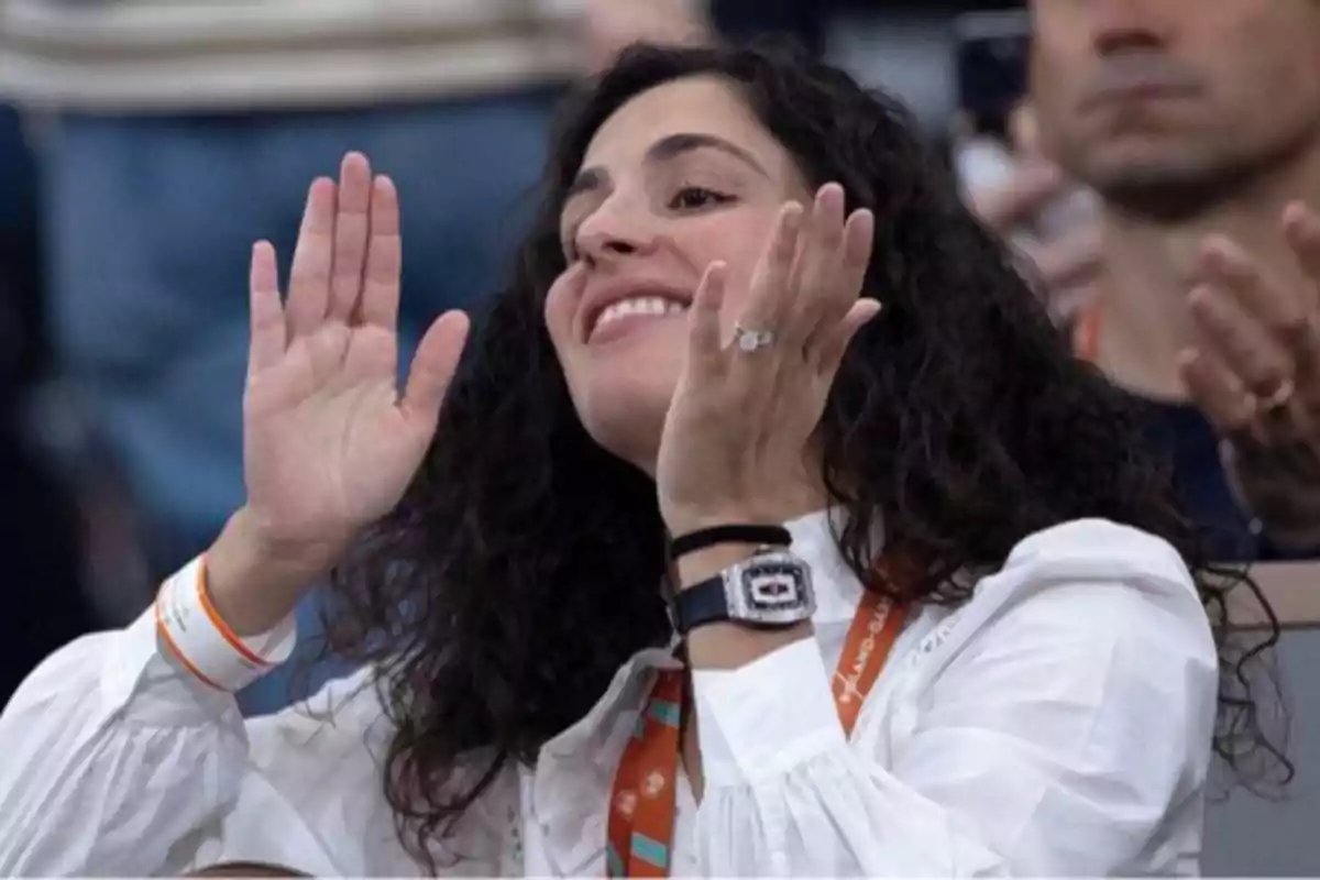
M907 606L895 606L871 591L862 594L833 678L834 706L845 736L853 732L906 616ZM682 672L657 673L623 751L610 797L606 867L611 877L669 876L686 681Z

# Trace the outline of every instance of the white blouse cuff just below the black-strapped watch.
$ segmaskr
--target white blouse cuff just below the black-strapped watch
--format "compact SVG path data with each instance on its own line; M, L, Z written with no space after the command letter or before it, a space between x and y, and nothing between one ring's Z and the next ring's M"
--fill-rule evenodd
M711 786L755 785L846 739L814 639L733 670L693 670L701 765Z

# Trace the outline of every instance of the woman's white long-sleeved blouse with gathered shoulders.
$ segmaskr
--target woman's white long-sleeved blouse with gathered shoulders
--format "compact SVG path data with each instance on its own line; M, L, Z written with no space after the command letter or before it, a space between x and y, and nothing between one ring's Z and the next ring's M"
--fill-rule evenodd
M1217 665L1170 545L1100 520L1031 536L957 611L909 616L846 739L830 674L861 584L824 513L789 528L816 639L694 674L705 797L678 794L672 873L1197 872ZM496 780L441 867L603 876L614 770L665 662L639 653ZM150 615L87 636L0 716L0 875L417 875L381 793L389 735L367 673L244 722L166 660Z

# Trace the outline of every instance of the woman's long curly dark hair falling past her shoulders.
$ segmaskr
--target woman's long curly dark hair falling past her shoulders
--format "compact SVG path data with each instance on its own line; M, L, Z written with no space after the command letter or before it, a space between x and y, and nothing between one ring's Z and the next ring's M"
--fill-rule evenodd
M880 321L853 343L820 426L824 478L846 508L838 546L873 590L867 536L936 559L899 599L958 602L948 575L998 567L1034 532L1105 517L1158 534L1191 567L1222 646L1216 751L1291 767L1258 720L1246 664L1276 639L1229 643L1230 588L1144 458L1135 404L1073 358L1015 260L964 207L895 100L796 51L635 46L568 107L511 284L474 323L429 455L399 508L337 573L330 644L376 666L396 724L385 793L404 846L428 842L510 761L581 719L616 670L671 625L655 484L587 435L543 321L565 270L558 219L594 132L655 86L733 83L805 179L874 211L866 289ZM458 777L459 761L484 770ZM1257 761L1259 764L1259 761Z

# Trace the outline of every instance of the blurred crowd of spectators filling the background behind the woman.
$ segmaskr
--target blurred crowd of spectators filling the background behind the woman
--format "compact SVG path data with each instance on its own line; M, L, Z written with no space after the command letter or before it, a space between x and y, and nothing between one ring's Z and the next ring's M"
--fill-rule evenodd
M556 102L634 40L772 33L895 91L1078 355L1151 401L1224 554L1311 555L1320 261L1284 214L1320 204L1320 15L1057 0L1032 83L1014 5L0 1L0 703L51 649L137 616L242 503L248 249L290 256L312 178L358 149L399 183L416 343L502 282ZM1086 66L1123 54L1111 82ZM1088 146L1100 123L1076 108L1123 88L1204 92L1181 166ZM1205 278L1251 289L1185 296ZM1205 338L1221 360L1177 356ZM286 698L261 687L252 708Z

